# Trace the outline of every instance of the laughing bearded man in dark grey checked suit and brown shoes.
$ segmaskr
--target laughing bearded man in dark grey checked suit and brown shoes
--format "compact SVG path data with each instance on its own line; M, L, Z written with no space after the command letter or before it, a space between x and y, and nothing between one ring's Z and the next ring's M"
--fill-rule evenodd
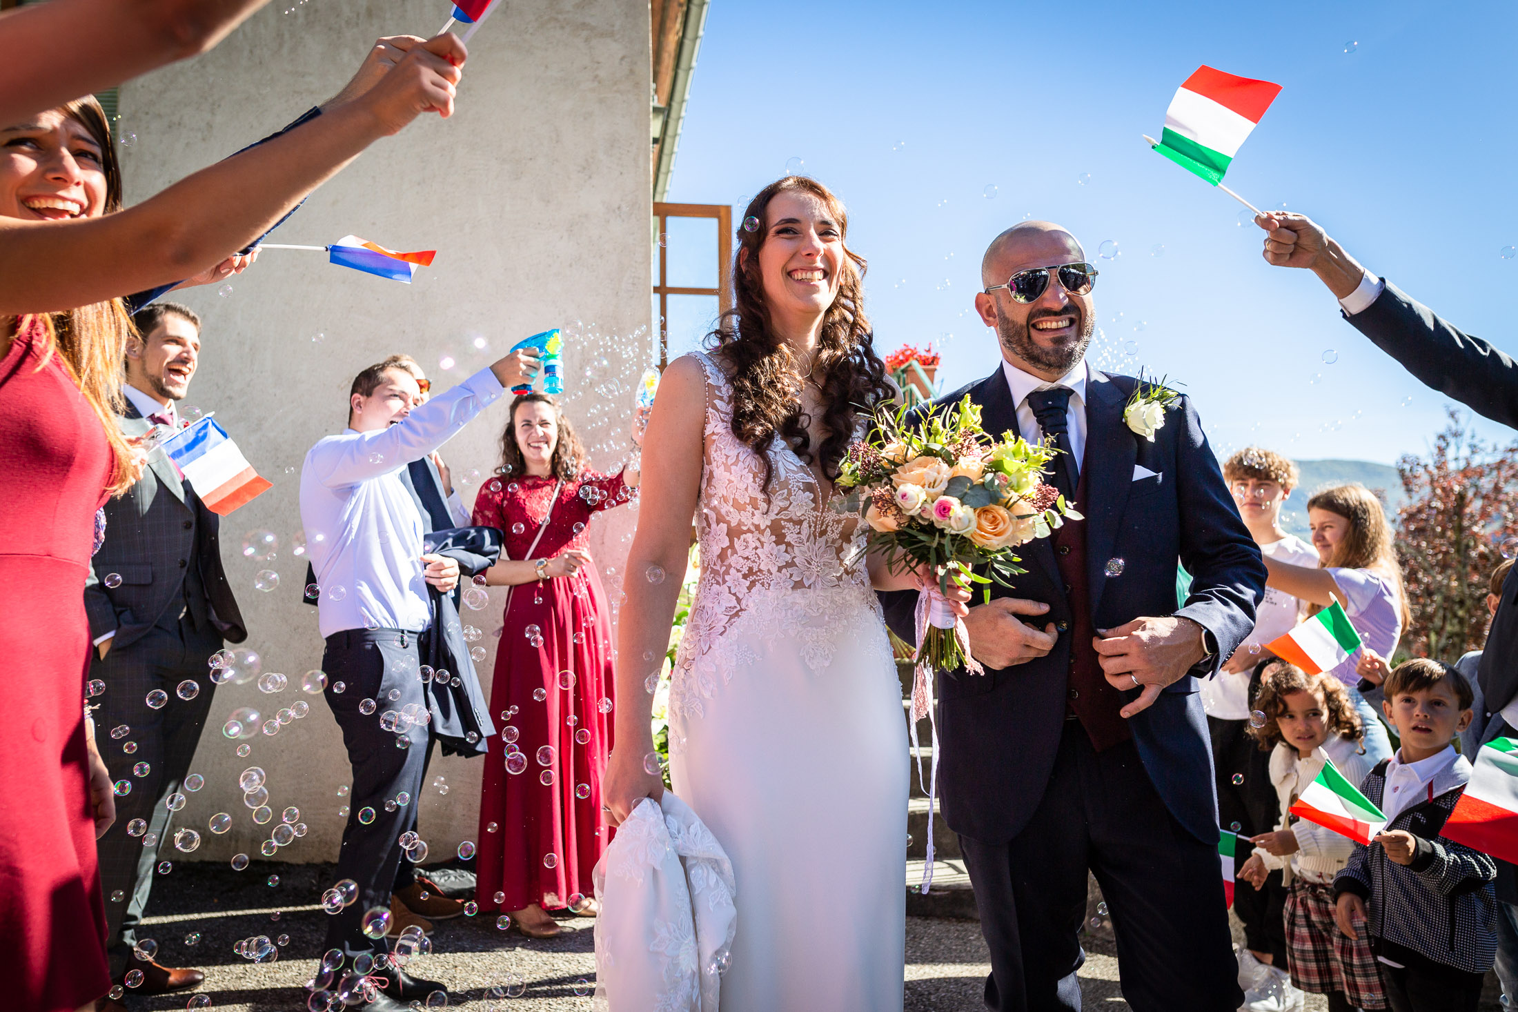
M135 322L143 337L126 352L121 431L134 437L155 425L178 429L175 402L184 399L199 363L200 320L187 306L162 302L140 311ZM96 725L131 728L121 739L100 739L111 778L132 784L117 797L115 824L97 844L111 976L120 982L128 970L141 970L144 980L134 992L162 994L194 986L203 974L132 959L135 927L159 848L175 853L165 800L185 790L211 709L206 662L223 640L247 639L247 630L222 572L217 514L161 449L147 464L143 478L105 507L105 543L85 581L85 610L96 643L90 677L105 683L91 699L100 707ZM146 822L146 831L134 819ZM146 845L149 836L155 845Z

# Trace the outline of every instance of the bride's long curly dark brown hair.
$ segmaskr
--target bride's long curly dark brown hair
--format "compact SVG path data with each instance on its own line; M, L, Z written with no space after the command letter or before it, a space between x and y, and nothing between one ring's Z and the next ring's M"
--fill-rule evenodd
M849 235L849 214L833 193L806 176L786 176L761 190L744 209L738 252L733 256L733 308L721 316L716 329L706 335L709 349L718 350L732 373L733 435L747 443L764 461L764 487L770 487L773 467L767 454L779 434L806 464L821 461L823 473L838 478L838 466L855 435L855 420L880 401L896 396L887 379L885 363L874 354L874 335L864 314L865 259L844 246L838 296L823 317L812 376L817 378L826 435L814 452L802 411L803 379L791 344L774 332L765 303L764 278L759 276L759 249L768 234L767 209L779 193L800 191L823 202L838 225L841 238Z

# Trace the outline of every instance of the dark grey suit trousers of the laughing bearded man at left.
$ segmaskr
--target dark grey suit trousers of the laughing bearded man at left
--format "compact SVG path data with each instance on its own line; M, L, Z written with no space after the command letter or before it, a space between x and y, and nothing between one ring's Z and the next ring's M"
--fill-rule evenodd
M90 665L90 677L105 683L105 693L91 699L100 704L94 715L100 757L111 771L111 780L132 784L131 792L115 798L115 822L96 842L112 977L128 970L159 854L164 860L179 856L172 828L176 815L164 801L184 790L216 687L206 662L219 649L219 633L196 631L188 618L165 618L141 639L128 646L112 646L103 658L97 654ZM200 689L194 698L181 699L178 686L187 678ZM167 702L162 707L147 706L152 692L162 692ZM124 737L112 739L111 730L121 725L131 730ZM126 751L128 743L135 745L134 751ZM193 795L187 798L193 800ZM147 830L138 836L128 834L134 819L144 821ZM182 816L179 821L184 822ZM203 825L197 830L205 834ZM153 844L144 847L147 841Z

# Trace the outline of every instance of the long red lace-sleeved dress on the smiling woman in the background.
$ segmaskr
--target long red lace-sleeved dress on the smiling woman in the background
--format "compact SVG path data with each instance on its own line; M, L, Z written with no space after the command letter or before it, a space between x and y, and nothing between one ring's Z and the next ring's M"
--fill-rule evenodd
M510 476L484 482L474 522L505 531L501 558L528 557L554 484ZM621 475L566 481L531 557L587 551L591 514L633 495ZM612 624L597 567L513 587L490 687L498 734L486 742L480 798L481 910L533 903L562 909L575 894L594 894L591 869L609 842L601 772L612 753L613 699Z

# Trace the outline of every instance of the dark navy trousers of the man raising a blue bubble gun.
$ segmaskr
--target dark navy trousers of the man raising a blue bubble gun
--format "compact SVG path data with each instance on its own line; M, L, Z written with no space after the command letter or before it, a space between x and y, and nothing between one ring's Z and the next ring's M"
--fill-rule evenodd
M392 889L405 885L398 882L404 857L399 839L416 828L417 797L433 739L425 724L413 724L405 731L381 727L387 712L399 712L411 702L427 709L416 633L332 633L326 637L322 671L326 672L326 704L343 731L354 769L335 880L352 878L358 885L358 900L328 918L325 947L340 948L351 960L389 948L384 933L380 938L364 933L363 919L376 907L389 910ZM339 684L342 692L337 692ZM366 701L373 701L370 713L363 712L369 709ZM398 801L402 792L407 804Z

